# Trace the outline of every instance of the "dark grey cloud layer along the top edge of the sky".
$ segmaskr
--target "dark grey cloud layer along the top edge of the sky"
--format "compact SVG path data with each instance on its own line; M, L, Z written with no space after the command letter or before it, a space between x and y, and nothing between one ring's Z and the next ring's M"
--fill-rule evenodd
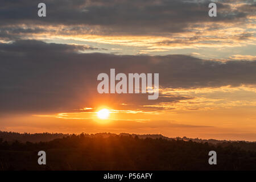
M193 28L193 23L243 22L255 14L255 2L247 2L241 9L232 3L218 1L217 18L208 16L211 1L181 0L46 0L47 17L38 17L38 1L1 0L0 26L15 24L72 26L100 26L100 34L164 34ZM40 31L40 30L34 30ZM47 30L45 30L47 31ZM77 30L79 31L79 30ZM187 30L186 30L187 31ZM94 32L97 34L97 32Z

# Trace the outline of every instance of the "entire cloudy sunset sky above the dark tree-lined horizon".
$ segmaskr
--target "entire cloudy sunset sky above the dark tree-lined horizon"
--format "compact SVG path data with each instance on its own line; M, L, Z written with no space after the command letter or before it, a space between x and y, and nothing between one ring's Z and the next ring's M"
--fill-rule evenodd
M256 141L255 1L40 2L0 0L0 130ZM159 73L158 100L99 94L110 68Z

